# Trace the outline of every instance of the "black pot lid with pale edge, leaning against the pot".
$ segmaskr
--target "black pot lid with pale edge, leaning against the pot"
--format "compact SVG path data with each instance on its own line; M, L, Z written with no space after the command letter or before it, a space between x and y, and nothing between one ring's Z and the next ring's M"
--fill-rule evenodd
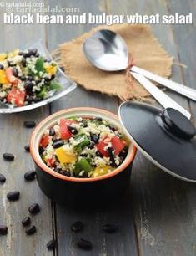
M178 110L126 101L118 116L138 150L169 174L196 182L196 131Z

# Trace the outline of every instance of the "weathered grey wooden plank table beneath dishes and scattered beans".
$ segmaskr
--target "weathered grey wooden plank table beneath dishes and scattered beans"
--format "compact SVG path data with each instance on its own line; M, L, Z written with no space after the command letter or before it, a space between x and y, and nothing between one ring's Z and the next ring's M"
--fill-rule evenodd
M15 1L18 2L18 1ZM41 1L39 1L41 2ZM33 3L33 1L32 1ZM195 0L46 0L51 7L79 8L80 13L155 14L193 13ZM22 48L43 38L49 50L86 31L86 25L3 25L1 8L0 50ZM74 13L73 13L74 14ZM196 89L196 29L195 25L152 25L175 63L172 79ZM196 120L196 104L171 91L168 95L190 110ZM69 95L43 108L14 115L0 115L0 156L12 152L16 160L1 160L0 172L7 182L0 186L0 223L8 225L8 235L0 237L1 256L43 255L95 255L95 256L193 256L196 255L196 187L183 182L153 166L139 152L133 164L130 195L121 204L91 211L74 211L60 206L40 191L37 182L24 182L23 174L34 168L31 156L23 149L28 143L30 129L23 127L24 120L43 120L57 111L75 106L102 107L117 112L119 100L107 95L89 92L78 87ZM161 143L161 141L160 141ZM18 202L8 202L6 195L12 190L21 192ZM28 214L28 206L38 202L42 211L33 218L38 232L30 237L24 232L21 220ZM83 238L93 243L92 251L83 251L73 243L70 224L81 220L86 228ZM102 232L103 223L116 223L118 233ZM46 243L55 238L58 248L48 251Z

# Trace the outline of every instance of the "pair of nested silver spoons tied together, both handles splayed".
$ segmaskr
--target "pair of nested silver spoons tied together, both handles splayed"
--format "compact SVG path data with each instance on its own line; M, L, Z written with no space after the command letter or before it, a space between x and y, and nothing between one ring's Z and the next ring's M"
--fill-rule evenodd
M105 71L120 71L128 68L128 47L123 38L108 29L101 29L83 42L83 53L88 61L98 69ZM130 74L138 80L164 108L173 108L186 115L188 119L191 114L181 105L164 94L147 78L152 79L159 84L177 91L178 93L196 100L196 90L191 90L183 84L175 83L164 79L157 74L138 68L134 65L129 70ZM191 91L190 91L191 90Z

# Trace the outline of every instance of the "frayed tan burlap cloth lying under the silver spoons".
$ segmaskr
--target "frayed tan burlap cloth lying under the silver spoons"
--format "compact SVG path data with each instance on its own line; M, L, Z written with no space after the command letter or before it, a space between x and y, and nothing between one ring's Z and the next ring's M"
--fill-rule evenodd
M83 54L83 40L96 30L108 28L119 33L128 44L133 64L163 77L171 74L173 58L158 43L147 25L112 25L93 28L89 33L61 44L56 52L66 74L87 90L97 90L108 95L118 95L122 100L144 100L148 92L132 79L126 81L125 72L105 72L93 67Z

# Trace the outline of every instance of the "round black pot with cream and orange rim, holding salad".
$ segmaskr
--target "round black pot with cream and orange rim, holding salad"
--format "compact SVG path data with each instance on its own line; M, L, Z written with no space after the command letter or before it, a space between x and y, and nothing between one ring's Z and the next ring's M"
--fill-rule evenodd
M96 108L73 108L61 110L49 115L41 121L33 131L30 141L30 151L35 162L38 185L42 191L54 202L77 205L79 203L112 202L113 199L122 196L129 186L132 164L136 155L136 148L130 142L128 156L123 163L113 172L99 177L78 178L66 177L54 172L42 161L38 147L43 132L52 126L58 119L71 116L102 117L110 124L122 129L118 116L107 110Z

